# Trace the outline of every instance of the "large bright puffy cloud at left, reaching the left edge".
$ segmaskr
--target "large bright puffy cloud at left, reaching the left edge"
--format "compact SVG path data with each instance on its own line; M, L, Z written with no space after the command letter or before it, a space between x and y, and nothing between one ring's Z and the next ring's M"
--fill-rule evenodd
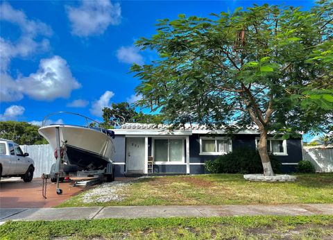
M0 101L17 101L23 95L36 100L52 101L68 98L80 83L71 75L65 59L59 56L40 60L40 68L28 77L12 80L7 74L1 77Z

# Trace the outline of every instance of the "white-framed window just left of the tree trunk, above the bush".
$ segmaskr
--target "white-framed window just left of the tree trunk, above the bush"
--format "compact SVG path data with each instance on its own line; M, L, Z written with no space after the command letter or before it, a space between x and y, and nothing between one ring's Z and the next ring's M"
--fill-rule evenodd
M225 137L200 137L200 155L223 155L231 151L231 139Z

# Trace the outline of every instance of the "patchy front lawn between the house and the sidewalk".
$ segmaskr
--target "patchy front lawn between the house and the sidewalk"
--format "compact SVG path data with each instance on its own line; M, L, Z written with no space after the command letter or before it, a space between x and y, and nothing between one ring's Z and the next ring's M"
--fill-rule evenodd
M241 174L140 178L110 191L112 200L84 203L89 191L58 207L333 203L333 174L297 175L296 182L248 182Z

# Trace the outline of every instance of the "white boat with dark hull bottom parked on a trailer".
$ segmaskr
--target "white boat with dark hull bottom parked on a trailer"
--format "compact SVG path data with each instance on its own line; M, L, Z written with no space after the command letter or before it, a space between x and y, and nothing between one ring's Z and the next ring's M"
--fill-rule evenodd
M84 117L87 126L67 124L51 124L46 126L48 117L53 114L65 113ZM47 142L51 145L55 157L58 157L57 129L59 129L60 155L69 166L75 166L78 171L93 171L104 169L112 162L114 156L114 132L104 128L92 127L89 119L73 112L56 112L44 118L42 127L38 129ZM96 124L95 124L96 126ZM97 125L98 126L98 125Z

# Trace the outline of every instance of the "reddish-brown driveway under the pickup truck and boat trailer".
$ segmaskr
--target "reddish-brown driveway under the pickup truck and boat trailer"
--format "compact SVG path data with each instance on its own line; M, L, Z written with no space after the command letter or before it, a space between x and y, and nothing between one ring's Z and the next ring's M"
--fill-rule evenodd
M31 182L24 182L21 178L1 178L0 207L54 207L85 189L84 187L73 187L73 182L62 182L60 188L62 194L57 195L56 184L48 180L47 198L44 199L41 178L34 178Z

